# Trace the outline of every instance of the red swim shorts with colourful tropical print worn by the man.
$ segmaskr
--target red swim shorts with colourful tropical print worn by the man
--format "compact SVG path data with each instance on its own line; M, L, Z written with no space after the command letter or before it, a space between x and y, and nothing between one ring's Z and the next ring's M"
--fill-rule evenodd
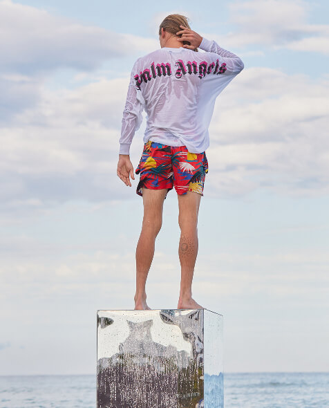
M169 146L149 140L144 144L140 163L135 174L140 174L136 193L142 196L142 188L162 189L168 192L175 187L177 194L188 191L203 196L208 160L203 153L190 153L186 146Z

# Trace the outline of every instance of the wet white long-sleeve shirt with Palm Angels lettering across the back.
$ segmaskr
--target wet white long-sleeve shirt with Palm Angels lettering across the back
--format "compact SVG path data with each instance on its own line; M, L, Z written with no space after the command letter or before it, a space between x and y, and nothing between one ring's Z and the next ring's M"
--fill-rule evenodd
M137 59L123 111L120 154L129 154L143 109L147 113L144 143L185 145L191 153L209 147L215 100L244 64L214 40L203 38L199 48L206 52L162 47Z

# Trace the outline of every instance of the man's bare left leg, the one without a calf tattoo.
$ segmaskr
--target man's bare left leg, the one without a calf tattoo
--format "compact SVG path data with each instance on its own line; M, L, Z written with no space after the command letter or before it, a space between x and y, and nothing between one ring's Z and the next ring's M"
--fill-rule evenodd
M163 201L168 189L143 188L142 191L144 217L142 232L140 232L136 248L135 310L149 309L146 302L145 284L153 260L156 236L162 225Z

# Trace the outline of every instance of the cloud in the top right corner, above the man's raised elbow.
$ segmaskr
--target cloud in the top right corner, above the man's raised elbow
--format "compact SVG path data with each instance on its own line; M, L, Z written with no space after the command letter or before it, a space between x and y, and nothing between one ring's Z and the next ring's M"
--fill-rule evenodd
M308 24L310 4L301 0L251 0L229 4L229 23L237 30L218 37L227 47L272 46L329 53L329 26Z

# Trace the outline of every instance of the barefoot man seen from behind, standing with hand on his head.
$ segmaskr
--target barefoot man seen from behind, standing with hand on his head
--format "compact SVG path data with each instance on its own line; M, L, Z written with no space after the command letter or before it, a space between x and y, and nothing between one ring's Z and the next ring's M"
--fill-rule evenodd
M161 48L137 59L122 118L117 174L135 180L129 147L147 112L144 149L135 170L143 198L142 232L136 248L135 310L149 309L145 284L162 225L164 199L178 194L181 266L178 309L202 308L191 284L198 253L198 210L208 162L209 122L216 97L243 70L239 57L191 30L187 18L169 15L160 24ZM205 52L198 52L198 47Z

